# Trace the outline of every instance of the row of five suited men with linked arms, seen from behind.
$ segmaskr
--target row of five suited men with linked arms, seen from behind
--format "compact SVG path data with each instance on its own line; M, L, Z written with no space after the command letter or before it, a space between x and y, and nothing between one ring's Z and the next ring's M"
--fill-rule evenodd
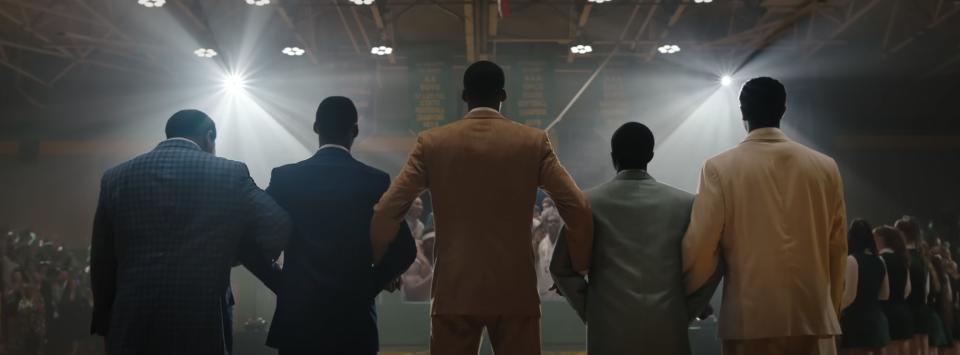
M779 82L744 85L750 134L706 163L696 198L646 171L654 137L639 123L614 134L617 177L584 194L544 131L499 112L504 84L496 64L471 65L469 113L423 132L392 184L351 156L349 99L320 104L320 149L275 169L266 192L213 155L209 117L178 112L168 140L104 175L93 332L110 354L229 353L229 271L243 264L278 295L268 344L281 355L376 354L374 297L413 262L404 216L430 191L431 351L476 354L486 329L498 354L539 354L530 226L542 188L566 223L551 271L589 325L590 352L689 353L687 323L722 276L725 353L833 353L842 186L830 158L779 130Z

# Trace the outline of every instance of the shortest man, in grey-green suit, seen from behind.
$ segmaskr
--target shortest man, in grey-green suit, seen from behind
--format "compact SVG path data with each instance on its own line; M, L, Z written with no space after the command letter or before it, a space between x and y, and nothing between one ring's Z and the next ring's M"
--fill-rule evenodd
M647 174L654 138L643 124L621 126L611 146L617 176L586 191L595 236L589 281L570 267L562 232L550 272L587 323L588 353L690 354L687 325L713 291L688 298L683 283L693 195Z

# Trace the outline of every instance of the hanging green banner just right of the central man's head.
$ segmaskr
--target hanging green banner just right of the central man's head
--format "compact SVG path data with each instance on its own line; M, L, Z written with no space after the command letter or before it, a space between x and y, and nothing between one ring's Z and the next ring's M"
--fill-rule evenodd
M513 65L507 100L512 119L531 127L544 128L553 112L553 66L548 62L520 62Z

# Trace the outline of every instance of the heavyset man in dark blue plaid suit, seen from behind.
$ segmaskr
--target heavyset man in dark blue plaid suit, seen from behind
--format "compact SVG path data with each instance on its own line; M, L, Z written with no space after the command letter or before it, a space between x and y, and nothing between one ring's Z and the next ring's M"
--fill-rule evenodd
M214 156L206 114L177 112L167 140L101 182L90 277L92 332L111 355L229 354L229 278L270 265L289 217L243 163Z

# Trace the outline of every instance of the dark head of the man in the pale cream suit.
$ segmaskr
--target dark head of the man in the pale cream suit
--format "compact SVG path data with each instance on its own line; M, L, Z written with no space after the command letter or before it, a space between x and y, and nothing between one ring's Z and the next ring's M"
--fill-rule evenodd
M750 79L740 90L740 108L745 119L761 126L779 126L787 107L787 89L777 79Z

